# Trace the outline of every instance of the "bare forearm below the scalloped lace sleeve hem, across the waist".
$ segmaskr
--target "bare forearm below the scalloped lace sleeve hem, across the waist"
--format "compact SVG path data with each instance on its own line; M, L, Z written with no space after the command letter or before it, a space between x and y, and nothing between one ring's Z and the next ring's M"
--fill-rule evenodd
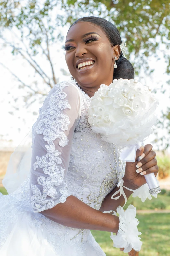
M75 196L69 196L64 203L41 212L47 218L62 225L117 233L119 218L102 213L88 206Z

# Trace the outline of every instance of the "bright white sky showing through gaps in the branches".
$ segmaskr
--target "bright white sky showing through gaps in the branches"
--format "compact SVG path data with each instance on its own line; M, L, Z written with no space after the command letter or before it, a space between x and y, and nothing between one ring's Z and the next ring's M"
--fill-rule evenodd
M56 77L59 78L59 82L63 80L68 80L69 76L64 76L61 72L61 68L67 71L69 70L65 62L65 52L61 49L62 45L65 42L66 34L68 31L68 26L65 26L62 29L64 35L64 41L57 43L51 47L51 58L54 63ZM7 38L13 37L10 31L7 33ZM158 118L161 116L161 111L166 111L170 90L166 81L169 77L165 74L166 64L164 63L163 56L159 53L160 60L156 61L154 57L150 57L148 62L149 66L154 68L155 71L152 73L152 76L145 77L144 82L146 85L149 85L152 89L157 88L158 93L156 97L159 100L159 106L157 108ZM46 60L39 56L37 61L41 63L41 66L48 72L46 68ZM38 82L41 82L38 76L33 76L33 70L28 63L19 55L12 56L10 47L5 47L0 51L0 62L7 66L13 73L17 74L21 80L26 81L28 84L36 79ZM142 67L141 67L142 69ZM145 70L141 70L141 73L145 74ZM18 89L18 81L14 78L7 69L3 68L0 65L0 147L11 146L16 147L26 134L30 131L32 125L37 119L37 115L33 115L33 112L38 113L39 108L42 106L42 103L39 103L37 100L34 104L28 108L23 107L23 94L22 89ZM138 78L135 76L135 78ZM163 84L164 88L167 90L165 94L160 94L160 87ZM43 85L42 85L43 86ZM49 88L50 91L50 88ZM17 98L17 102L14 102L14 98ZM12 105L15 105L19 110L14 110ZM13 114L12 114L13 112ZM160 131L160 136L165 131ZM150 143L154 139L154 135L151 135L147 141ZM156 145L154 145L156 147Z

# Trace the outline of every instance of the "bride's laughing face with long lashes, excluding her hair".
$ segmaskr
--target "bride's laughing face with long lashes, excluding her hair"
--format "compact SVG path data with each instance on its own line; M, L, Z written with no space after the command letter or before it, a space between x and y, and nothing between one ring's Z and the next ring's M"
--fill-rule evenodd
M113 47L99 26L90 22L75 24L67 33L65 47L68 69L82 88L97 90L102 83L109 85L113 81L114 57L119 58L120 46ZM85 66L77 66L83 62Z

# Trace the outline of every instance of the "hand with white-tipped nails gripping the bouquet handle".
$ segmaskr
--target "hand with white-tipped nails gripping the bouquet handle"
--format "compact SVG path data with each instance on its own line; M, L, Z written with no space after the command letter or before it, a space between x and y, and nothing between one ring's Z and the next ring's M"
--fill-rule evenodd
M138 162L137 158L141 160ZM154 173L155 177L159 171L156 153L152 150L152 145L147 144L136 152L135 162L126 162L124 181L130 183L132 189L137 189L146 183L144 174ZM137 167L136 167L137 166ZM126 186L126 185L125 185Z

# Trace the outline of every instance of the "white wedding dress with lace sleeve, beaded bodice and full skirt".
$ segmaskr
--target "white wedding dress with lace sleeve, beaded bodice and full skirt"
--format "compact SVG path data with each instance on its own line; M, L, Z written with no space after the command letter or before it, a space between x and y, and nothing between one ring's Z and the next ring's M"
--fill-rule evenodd
M91 130L90 98L74 81L50 90L32 127L30 173L13 193L0 193L1 256L106 256L90 230L40 213L70 195L99 210L124 174L118 148Z

